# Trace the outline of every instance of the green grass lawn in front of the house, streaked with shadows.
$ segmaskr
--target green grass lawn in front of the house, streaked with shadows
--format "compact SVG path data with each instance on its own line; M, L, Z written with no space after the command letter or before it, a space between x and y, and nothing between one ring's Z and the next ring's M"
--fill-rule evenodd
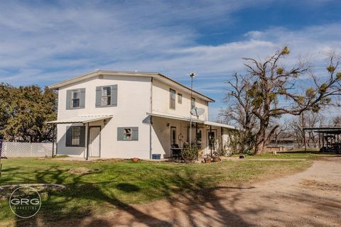
M78 218L124 209L162 199L173 194L195 194L198 190L219 186L241 186L251 182L288 175L310 166L315 154L286 154L281 158L303 155L307 160L224 161L212 164L174 164L169 162L70 162L55 158L2 160L0 185L53 183L63 184L61 192L40 192L42 206L38 214L45 223L63 218ZM266 157L275 155L267 154ZM278 157L278 155L276 155ZM248 157L249 158L249 157ZM303 158L300 156L300 158ZM77 175L75 168L96 170ZM1 194L1 192L0 192ZM33 219L16 218L9 209L8 199L0 199L0 223L26 223ZM17 224L18 224L17 223Z

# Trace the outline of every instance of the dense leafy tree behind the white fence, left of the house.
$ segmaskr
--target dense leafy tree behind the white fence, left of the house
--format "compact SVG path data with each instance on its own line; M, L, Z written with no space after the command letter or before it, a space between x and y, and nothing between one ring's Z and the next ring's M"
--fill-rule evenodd
M27 142L52 140L53 128L45 121L53 121L57 116L55 92L48 87L41 89L36 85L2 85L0 108L4 113L1 114L0 130L5 138Z

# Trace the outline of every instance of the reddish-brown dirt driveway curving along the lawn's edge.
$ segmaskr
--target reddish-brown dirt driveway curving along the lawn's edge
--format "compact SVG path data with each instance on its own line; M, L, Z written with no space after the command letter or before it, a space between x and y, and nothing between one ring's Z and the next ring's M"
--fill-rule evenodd
M68 223L70 224L70 222ZM341 157L305 172L254 184L181 195L85 218L76 226L341 226Z

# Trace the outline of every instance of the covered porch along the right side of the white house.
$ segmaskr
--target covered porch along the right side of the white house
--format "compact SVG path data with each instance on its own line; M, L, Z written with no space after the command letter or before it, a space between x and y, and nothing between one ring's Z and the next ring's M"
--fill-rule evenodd
M151 116L152 154L161 158L176 156L184 145L197 145L202 155L212 155L218 149L227 149L229 134L237 130L234 126L196 117L184 118L168 114L148 114ZM175 152L175 153L174 153Z

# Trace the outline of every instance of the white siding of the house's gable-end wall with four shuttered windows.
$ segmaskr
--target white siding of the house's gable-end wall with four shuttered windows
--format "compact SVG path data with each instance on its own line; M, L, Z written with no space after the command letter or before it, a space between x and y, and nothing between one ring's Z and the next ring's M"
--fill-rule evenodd
M96 87L113 84L118 86L117 106L96 108ZM85 88L85 109L66 110L66 91L77 88ZM149 124L143 121L150 110L150 96L150 77L94 77L59 89L58 120L81 115L112 114L114 117L106 126L103 121L90 123L90 126L102 126L101 157L149 158ZM86 148L65 148L66 126L70 124L58 125L58 154L85 157ZM117 127L139 127L139 141L117 141Z

